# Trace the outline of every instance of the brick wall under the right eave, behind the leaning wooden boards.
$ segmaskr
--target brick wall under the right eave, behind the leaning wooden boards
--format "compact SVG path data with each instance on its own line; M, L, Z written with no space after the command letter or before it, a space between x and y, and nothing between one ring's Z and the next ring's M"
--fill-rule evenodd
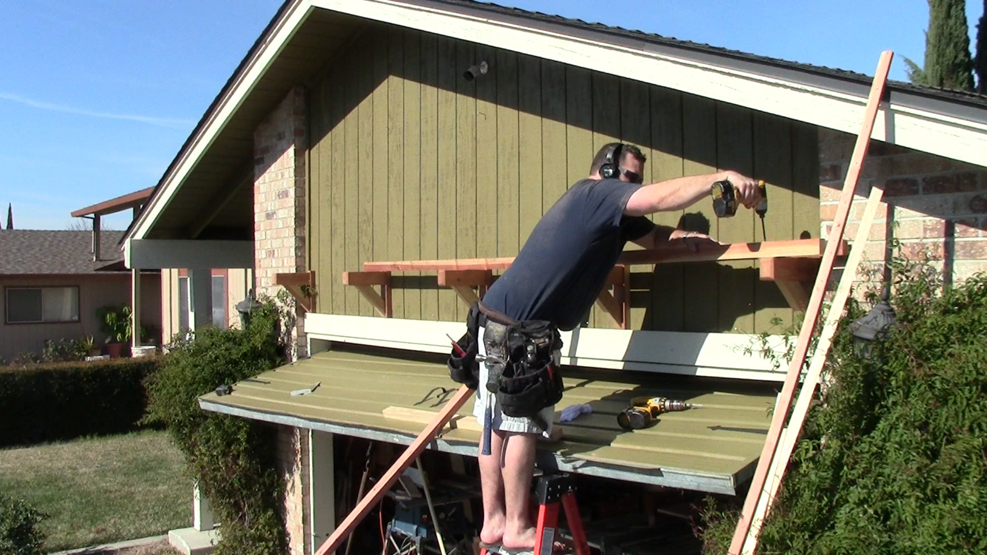
M832 227L856 140L849 133L819 130L823 238ZM865 182L884 185L884 202L869 233L865 264L870 268L885 260L886 238L893 237L905 256L937 261L948 282L987 272L987 168L872 141L861 173ZM854 198L845 239L857 236L866 203L866 196Z

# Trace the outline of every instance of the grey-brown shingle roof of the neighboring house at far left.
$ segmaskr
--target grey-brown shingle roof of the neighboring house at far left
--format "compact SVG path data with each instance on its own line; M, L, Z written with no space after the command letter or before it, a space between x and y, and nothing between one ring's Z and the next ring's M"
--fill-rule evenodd
M97 274L122 257L122 231L101 231L98 262L91 231L0 230L0 276Z

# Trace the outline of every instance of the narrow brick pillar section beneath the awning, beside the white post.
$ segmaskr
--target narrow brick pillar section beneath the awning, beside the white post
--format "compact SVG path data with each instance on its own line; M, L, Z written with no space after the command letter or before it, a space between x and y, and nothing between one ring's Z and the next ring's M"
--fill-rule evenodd
M290 426L277 430L277 470L284 479L284 523L290 555L311 555L309 537L308 434Z

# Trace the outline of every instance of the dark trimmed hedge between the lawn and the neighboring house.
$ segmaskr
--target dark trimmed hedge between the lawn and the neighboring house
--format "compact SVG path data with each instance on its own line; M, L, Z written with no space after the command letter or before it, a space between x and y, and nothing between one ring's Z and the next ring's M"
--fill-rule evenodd
M0 367L0 446L137 427L160 357Z

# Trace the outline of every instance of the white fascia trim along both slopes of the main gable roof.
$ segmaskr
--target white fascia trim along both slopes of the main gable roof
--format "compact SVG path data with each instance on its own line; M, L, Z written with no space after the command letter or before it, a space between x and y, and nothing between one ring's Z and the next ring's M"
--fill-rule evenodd
M161 191L150 199L130 234L143 239L226 121L313 8L391 23L453 39L558 60L850 133L858 133L866 96L850 95L618 44L581 39L488 18L394 0L299 0L236 76L236 83L192 139ZM876 58L876 55L874 56ZM873 138L987 166L987 124L902 106L882 105Z

